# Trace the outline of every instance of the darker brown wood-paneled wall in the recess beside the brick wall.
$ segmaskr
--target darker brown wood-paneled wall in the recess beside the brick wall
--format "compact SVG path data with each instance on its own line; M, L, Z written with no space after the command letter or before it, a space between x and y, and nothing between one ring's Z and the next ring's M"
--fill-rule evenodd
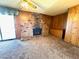
M53 16L50 25L50 33L58 38L62 38L63 30L66 29L67 13Z

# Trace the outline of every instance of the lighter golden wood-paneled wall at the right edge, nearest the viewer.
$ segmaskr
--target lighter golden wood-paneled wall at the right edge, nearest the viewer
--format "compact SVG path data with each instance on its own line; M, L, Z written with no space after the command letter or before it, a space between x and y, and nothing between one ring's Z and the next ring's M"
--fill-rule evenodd
M79 46L79 5L69 9L65 41Z

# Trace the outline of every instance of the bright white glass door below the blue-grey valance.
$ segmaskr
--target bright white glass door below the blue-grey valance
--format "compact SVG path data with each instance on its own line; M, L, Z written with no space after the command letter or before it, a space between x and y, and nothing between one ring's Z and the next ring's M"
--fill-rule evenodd
M13 15L0 15L0 26L3 40L16 38Z

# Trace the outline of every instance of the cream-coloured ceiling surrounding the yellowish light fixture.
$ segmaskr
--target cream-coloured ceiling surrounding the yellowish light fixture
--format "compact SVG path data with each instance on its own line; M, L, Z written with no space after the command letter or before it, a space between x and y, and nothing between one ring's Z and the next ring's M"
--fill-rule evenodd
M21 0L0 0L0 5L18 8L24 11L38 12L47 15L57 15L64 13L68 8L78 5L79 0L32 0L37 9L30 6L22 6Z

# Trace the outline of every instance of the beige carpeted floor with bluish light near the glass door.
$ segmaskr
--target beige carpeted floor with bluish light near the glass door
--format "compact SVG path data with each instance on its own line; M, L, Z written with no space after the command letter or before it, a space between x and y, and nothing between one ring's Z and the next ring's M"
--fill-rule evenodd
M10 40L0 42L0 59L79 59L79 48L51 36Z

